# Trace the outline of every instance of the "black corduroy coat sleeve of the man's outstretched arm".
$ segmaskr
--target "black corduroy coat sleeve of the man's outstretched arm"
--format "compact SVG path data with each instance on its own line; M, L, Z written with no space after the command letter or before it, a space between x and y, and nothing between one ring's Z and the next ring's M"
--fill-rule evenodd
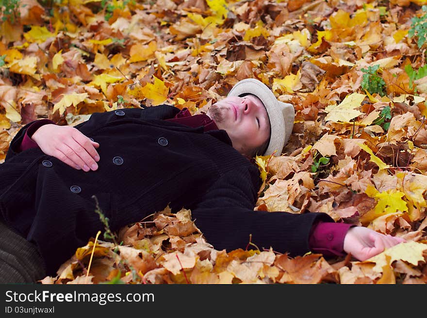
M247 167L218 178L192 210L193 219L215 249L245 249L249 236L258 248L302 255L310 251L316 221L333 222L325 213L254 211L256 191Z

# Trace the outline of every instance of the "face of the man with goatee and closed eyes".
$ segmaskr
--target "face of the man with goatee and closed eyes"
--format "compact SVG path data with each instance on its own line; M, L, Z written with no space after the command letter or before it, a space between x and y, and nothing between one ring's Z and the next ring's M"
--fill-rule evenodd
M263 102L255 95L229 96L213 104L206 113L230 136L241 154L260 147L270 137L270 121Z

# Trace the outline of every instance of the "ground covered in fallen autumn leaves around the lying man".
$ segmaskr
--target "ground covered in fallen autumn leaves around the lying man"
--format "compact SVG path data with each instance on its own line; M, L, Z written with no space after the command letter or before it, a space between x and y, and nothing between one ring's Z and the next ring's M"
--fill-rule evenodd
M226 253L191 211L166 208L123 228L121 245L91 239L43 283L427 283L427 1L15 2L1 10L1 162L38 118L76 125L140 103L198 113L257 78L296 119L284 154L257 158L255 209L321 211L407 240L364 262L249 238Z

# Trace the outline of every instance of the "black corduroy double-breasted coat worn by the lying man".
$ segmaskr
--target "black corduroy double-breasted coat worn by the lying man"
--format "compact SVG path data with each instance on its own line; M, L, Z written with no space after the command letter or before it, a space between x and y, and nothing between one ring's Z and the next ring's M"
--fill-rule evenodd
M162 119L179 109L162 105L93 113L76 128L100 144L97 171L84 172L39 148L17 153L26 128L0 164L3 220L33 241L53 274L77 247L103 230L99 200L112 230L182 207L216 249L258 247L304 254L312 223L326 214L253 211L260 187L256 166L232 146L225 130L203 132ZM46 161L47 160L47 161Z

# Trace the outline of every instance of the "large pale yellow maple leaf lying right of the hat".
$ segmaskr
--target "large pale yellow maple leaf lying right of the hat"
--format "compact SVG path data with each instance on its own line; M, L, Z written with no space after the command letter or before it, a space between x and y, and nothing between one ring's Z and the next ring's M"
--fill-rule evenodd
M360 107L361 102L365 99L366 95L353 93L345 96L344 100L339 105L328 105L325 111L328 113L325 121L332 122L350 122L351 119L363 114L361 111L355 110Z

